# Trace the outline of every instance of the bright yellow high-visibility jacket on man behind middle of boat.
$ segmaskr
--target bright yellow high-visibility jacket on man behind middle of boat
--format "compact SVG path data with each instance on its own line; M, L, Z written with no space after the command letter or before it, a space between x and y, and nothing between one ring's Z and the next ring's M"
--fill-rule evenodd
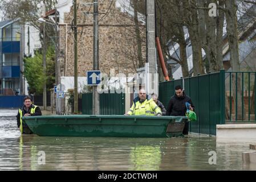
M157 115L162 114L161 109L156 103L151 100L145 100L140 103L140 101L133 102L132 107L129 109L129 115Z

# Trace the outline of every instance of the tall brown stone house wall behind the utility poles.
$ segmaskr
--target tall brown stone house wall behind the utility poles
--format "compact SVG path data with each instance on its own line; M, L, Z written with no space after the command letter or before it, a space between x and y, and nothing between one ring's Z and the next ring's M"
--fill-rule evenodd
M93 63L93 11L91 0L78 1L78 76L86 77ZM59 13L60 77L74 76L74 34L72 32L72 1L62 5ZM124 13L117 2L99 0L99 62L101 72L135 73L138 68L137 40L133 17ZM143 61L145 63L145 25L140 23Z

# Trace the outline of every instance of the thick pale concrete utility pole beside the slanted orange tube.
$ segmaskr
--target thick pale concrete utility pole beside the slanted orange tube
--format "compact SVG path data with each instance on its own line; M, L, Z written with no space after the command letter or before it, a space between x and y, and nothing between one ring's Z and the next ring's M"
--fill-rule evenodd
M149 63L149 80L151 85L155 85L154 93L158 93L158 78L153 79L154 74L157 73L156 63L156 39L155 39L155 0L146 0L147 11L147 62ZM149 88L151 89L151 88ZM157 90L156 90L157 89ZM148 92L150 90L147 90Z

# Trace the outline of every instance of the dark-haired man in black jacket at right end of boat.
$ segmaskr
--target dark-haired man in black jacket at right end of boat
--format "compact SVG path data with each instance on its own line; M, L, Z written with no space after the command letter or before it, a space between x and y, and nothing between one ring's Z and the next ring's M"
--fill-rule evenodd
M190 110L194 111L194 106L192 104L191 98L186 96L183 88L180 85L175 87L175 95L170 98L166 115L174 116L185 116L186 114L186 102L190 104ZM185 123L183 134L187 135L189 129L189 123Z

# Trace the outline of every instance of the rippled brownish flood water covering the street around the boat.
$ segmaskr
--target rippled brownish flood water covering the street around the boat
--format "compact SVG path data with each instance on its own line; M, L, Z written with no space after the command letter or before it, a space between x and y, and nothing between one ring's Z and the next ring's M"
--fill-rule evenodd
M242 152L256 141L184 138L21 137L17 110L0 110L0 170L256 170ZM209 159L216 152L214 159ZM45 154L45 164L40 158Z

